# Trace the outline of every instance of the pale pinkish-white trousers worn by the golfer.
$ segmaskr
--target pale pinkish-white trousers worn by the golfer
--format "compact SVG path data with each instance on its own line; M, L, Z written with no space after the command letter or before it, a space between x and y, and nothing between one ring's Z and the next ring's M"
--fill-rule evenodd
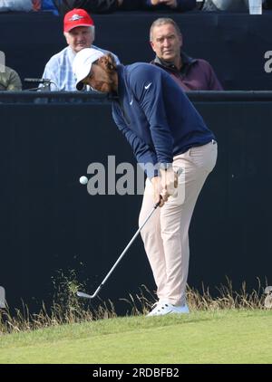
M199 192L217 161L217 143L189 148L174 157L173 167L183 171L179 187L167 203L158 208L141 230L141 238L147 253L157 296L160 301L173 305L186 302L186 285L189 270L189 223ZM153 187L147 179L141 205L139 224L151 211Z

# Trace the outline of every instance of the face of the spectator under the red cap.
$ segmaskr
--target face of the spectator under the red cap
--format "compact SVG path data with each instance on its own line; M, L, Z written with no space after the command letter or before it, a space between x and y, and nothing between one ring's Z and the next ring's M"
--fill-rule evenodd
M93 43L92 29L89 26L77 26L64 33L64 36L75 53L79 53L83 48L90 48Z

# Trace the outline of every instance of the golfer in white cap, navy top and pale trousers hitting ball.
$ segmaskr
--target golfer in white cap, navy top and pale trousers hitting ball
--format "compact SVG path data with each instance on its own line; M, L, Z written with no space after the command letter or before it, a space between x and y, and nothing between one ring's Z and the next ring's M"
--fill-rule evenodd
M154 203L162 207L141 231L158 296L148 316L189 313L189 223L216 164L215 137L179 84L154 65L116 65L111 54L86 48L77 53L73 72L78 90L90 85L117 96L113 119L147 173L140 224Z

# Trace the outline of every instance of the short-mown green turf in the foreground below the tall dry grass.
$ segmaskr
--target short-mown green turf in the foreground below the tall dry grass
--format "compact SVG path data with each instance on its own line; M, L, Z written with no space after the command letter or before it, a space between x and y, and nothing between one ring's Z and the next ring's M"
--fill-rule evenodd
M272 310L137 316L6 334L0 363L272 363Z

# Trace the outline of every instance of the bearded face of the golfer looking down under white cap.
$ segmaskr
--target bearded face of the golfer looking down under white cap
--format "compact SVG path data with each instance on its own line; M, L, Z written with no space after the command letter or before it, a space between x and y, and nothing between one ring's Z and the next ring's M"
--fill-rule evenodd
M102 91L103 93L112 91L112 79L109 73L97 63L92 63L91 72L83 80L83 83L90 85L95 91Z

